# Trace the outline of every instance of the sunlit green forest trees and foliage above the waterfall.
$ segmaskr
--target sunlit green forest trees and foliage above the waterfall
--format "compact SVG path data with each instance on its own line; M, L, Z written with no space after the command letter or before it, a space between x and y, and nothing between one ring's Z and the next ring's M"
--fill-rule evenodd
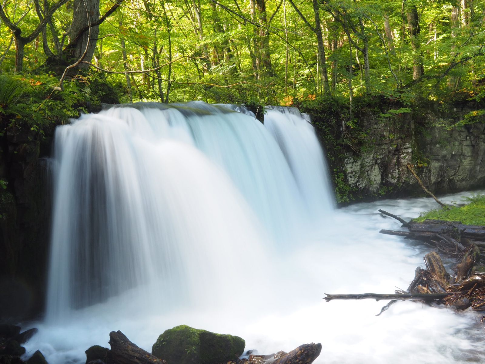
M122 102L483 99L484 42L482 0L0 2L1 73Z

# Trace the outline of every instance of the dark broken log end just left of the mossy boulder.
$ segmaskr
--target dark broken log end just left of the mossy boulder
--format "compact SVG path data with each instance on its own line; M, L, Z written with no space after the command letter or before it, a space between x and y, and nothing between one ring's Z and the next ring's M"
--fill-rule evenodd
M109 343L113 364L167 364L166 361L137 347L121 331L111 331Z

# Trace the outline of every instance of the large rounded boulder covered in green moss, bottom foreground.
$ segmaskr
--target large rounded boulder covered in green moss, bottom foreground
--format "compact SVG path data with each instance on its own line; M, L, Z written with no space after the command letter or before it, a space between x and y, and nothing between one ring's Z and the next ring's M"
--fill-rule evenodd
M180 325L158 337L152 354L168 364L220 364L241 355L244 346L245 342L239 336Z

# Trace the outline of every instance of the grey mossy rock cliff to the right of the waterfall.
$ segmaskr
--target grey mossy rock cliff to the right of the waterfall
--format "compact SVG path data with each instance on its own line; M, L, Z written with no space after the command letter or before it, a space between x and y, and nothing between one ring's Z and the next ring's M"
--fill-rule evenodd
M335 146L327 146L333 154L334 182L348 186L348 201L341 196L341 202L422 196L408 163L437 194L484 188L485 124L445 127L479 107L468 102L444 112L420 109L390 117L362 110L361 140L354 142L359 145L352 148L347 143L338 156ZM341 181L335 177L338 173Z

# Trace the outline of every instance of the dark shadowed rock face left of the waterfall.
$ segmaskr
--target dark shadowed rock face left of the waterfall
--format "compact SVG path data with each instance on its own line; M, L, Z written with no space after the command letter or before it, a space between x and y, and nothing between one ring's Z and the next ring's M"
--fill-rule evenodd
M1 127L1 125L0 125ZM1 129L1 128L0 128ZM0 318L42 309L50 230L49 136L9 126L0 135Z

